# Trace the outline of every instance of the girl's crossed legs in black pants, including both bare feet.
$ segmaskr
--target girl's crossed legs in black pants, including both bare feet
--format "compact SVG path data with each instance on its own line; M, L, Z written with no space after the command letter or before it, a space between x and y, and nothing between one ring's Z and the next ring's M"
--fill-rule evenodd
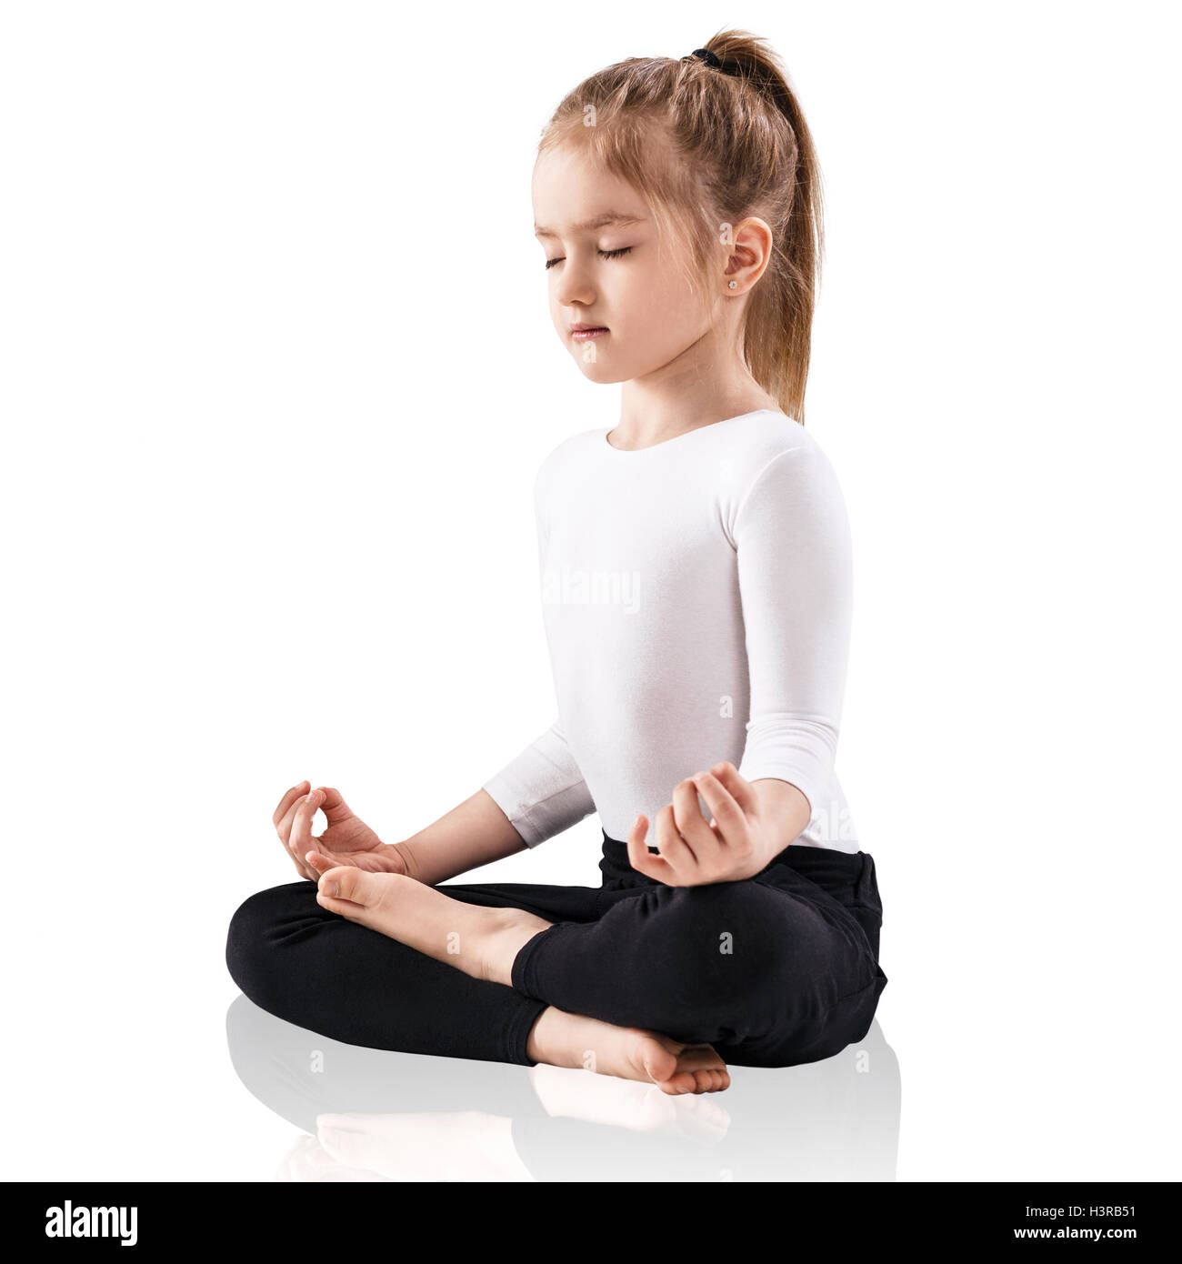
M727 1062L861 1039L885 982L848 913L788 870L622 891L336 876L335 895L250 896L226 962L262 1009L349 1044L712 1092Z

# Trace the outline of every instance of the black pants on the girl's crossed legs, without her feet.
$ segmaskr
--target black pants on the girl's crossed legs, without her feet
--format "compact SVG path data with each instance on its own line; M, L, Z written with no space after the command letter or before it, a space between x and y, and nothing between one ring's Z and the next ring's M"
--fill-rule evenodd
M255 1005L298 1026L453 1058L532 1064L530 1030L549 1005L748 1067L817 1062L870 1030L887 980L868 853L789 847L752 878L669 887L604 834L599 868L599 887L439 887L554 923L518 952L511 987L329 913L306 880L238 909L226 964Z

